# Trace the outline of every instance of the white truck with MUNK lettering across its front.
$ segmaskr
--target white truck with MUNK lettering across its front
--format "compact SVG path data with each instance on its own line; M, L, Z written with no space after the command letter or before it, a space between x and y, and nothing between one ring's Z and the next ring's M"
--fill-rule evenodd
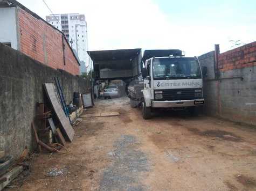
M206 68L202 72L197 57L184 57L181 50L170 55L172 52L145 50L143 81L128 87L130 105L141 107L144 119L150 119L156 108L186 109L196 114L197 106L204 104Z

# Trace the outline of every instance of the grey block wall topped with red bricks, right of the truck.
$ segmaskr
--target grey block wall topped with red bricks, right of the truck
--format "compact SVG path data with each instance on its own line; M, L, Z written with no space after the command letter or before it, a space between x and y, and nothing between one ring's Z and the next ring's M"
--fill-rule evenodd
M209 75L204 79L204 110L232 121L256 125L256 43L229 50L199 56ZM217 64L217 76L214 67ZM216 78L216 79L215 79Z

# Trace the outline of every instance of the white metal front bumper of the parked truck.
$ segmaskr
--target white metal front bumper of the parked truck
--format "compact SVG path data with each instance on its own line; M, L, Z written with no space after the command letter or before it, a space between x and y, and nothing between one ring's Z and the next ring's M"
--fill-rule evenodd
M152 101L152 107L170 108L170 107L191 107L204 104L204 99L176 100L176 101Z

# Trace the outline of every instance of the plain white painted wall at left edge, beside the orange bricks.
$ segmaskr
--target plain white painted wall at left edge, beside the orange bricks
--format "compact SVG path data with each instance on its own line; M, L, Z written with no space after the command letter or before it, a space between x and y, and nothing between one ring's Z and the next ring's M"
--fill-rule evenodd
M0 42L11 42L18 49L16 8L0 8Z

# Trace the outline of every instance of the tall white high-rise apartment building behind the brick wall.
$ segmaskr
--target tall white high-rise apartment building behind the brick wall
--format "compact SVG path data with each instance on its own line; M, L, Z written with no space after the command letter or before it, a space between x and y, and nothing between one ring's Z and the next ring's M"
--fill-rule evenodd
M85 73L90 69L90 58L87 54L88 38L87 23L84 14L50 14L46 21L62 31L71 47L78 54L80 60L80 72Z

